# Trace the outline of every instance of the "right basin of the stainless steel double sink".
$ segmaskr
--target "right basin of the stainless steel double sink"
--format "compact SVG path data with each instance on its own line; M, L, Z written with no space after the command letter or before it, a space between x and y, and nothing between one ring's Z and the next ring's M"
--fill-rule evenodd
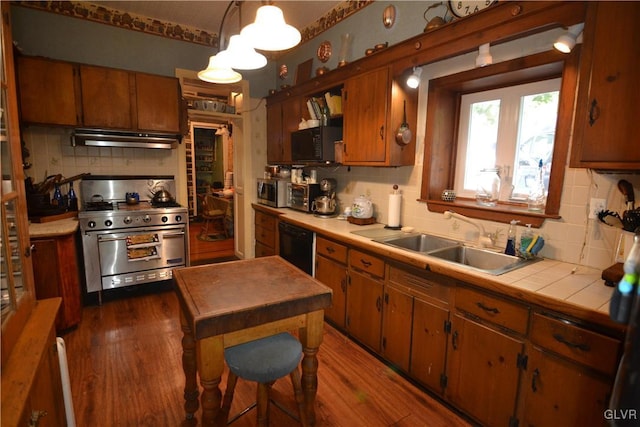
M428 255L493 275L503 274L539 260L523 259L469 246L452 246L432 251Z

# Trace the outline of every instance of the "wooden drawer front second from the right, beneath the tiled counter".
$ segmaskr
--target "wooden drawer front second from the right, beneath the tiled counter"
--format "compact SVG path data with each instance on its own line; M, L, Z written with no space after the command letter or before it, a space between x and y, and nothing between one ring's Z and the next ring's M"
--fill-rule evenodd
M529 307L468 288L456 289L456 307L519 334L527 333Z

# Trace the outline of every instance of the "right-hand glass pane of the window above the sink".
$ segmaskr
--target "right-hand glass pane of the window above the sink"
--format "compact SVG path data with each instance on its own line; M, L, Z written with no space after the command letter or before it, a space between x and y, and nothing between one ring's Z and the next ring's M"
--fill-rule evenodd
M537 180L540 160L545 191L549 189L558 98L559 91L521 98L512 199L524 200L530 194Z

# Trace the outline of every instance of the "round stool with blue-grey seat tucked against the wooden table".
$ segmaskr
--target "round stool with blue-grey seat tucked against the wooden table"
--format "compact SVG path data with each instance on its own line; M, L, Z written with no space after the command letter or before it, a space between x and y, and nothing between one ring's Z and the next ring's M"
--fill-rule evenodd
M303 426L307 426L304 397L300 383L300 370L298 369L301 357L302 345L295 337L286 332L225 349L224 358L229 367L229 376L227 378L227 389L224 393L222 411L227 420L238 377L258 383L256 403L228 420L228 424L231 424L257 406L258 425L268 426L271 386L277 379L288 374L293 383L299 418L277 402L273 401L273 403L287 415L300 421Z

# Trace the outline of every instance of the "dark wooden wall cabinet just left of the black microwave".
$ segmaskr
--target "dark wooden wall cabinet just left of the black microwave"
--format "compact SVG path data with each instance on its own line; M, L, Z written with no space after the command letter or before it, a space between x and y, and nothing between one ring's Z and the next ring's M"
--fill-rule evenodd
M302 119L301 98L285 94L283 99L267 101L267 163L291 163L291 132Z

